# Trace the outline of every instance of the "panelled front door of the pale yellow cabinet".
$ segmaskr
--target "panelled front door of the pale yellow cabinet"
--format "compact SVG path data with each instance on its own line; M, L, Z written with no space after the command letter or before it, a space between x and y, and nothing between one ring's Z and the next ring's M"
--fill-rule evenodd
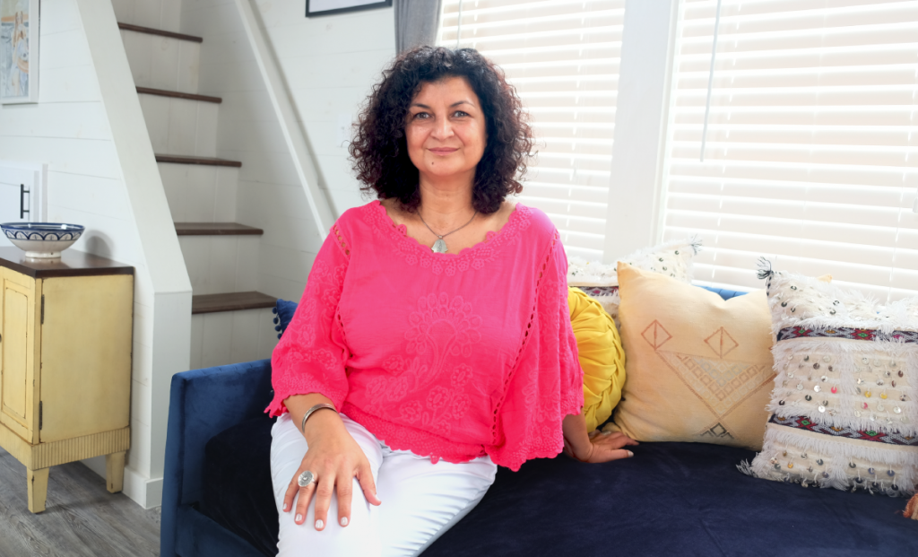
M0 270L0 423L31 441L35 414L35 280L6 268Z

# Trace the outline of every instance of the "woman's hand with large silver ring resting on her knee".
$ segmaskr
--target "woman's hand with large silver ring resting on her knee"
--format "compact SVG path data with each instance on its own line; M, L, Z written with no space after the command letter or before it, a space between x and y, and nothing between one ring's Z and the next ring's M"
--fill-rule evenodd
M296 414L302 419L305 411ZM296 419L293 411L291 415ZM297 524L303 524L306 520L309 502L315 496L315 528L325 529L328 525L331 496L337 491L338 523L347 526L351 521L354 477L360 482L366 500L373 505L380 504L376 498L376 485L370 462L357 445L357 441L344 427L341 416L331 410L316 411L307 420L305 435L309 449L284 495L284 512L290 512L294 506L294 498L297 498L297 515L294 518ZM299 475L307 470L313 473L315 481L306 487L300 487L297 483Z

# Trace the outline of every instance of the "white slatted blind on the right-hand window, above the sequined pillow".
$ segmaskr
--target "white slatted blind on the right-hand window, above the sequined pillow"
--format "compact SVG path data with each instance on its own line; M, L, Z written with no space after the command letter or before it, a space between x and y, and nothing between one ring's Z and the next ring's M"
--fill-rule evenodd
M711 283L761 288L767 256L880 300L918 294L918 2L722 0L719 21L717 6L682 6L665 236L700 233Z

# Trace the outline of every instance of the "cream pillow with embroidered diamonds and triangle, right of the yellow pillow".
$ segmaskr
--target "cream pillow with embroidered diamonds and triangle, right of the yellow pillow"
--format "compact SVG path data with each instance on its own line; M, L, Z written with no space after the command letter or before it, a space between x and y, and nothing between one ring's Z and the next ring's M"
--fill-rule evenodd
M628 379L611 429L760 449L774 377L765 291L723 300L626 263L618 278Z

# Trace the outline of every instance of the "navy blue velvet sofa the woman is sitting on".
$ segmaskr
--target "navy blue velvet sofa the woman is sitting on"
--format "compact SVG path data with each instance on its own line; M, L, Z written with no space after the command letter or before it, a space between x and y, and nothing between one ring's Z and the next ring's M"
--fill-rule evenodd
M263 414L271 396L267 359L174 376L162 557L276 554L273 420ZM645 443L629 460L561 456L529 461L520 472L500 469L482 502L424 555L918 555L918 521L901 516L904 499L738 472L754 455Z

